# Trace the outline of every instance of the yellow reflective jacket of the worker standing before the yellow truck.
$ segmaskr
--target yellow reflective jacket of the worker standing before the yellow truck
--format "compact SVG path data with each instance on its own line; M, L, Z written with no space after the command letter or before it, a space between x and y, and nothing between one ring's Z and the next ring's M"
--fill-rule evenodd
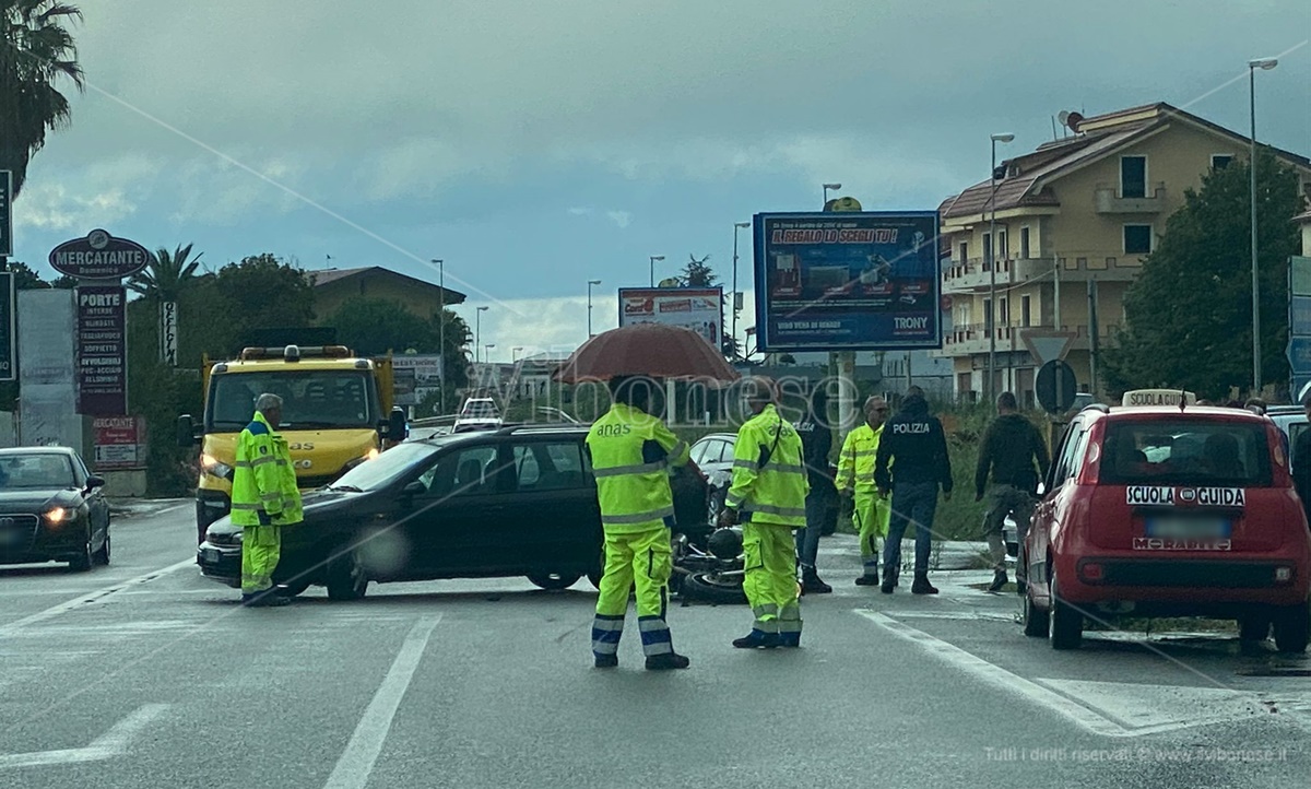
M291 451L287 440L269 427L260 412L237 436L237 460L232 471L233 524L300 523L300 490L296 488L296 469L291 465Z

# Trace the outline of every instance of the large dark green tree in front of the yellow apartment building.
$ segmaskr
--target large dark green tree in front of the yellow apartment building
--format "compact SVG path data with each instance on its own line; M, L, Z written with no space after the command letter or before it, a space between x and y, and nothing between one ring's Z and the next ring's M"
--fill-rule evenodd
M1287 380L1287 258L1303 210L1298 176L1269 149L1256 163L1261 370ZM1126 329L1103 354L1113 391L1186 387L1219 397L1252 379L1251 170L1234 161L1188 190L1165 235L1125 294Z

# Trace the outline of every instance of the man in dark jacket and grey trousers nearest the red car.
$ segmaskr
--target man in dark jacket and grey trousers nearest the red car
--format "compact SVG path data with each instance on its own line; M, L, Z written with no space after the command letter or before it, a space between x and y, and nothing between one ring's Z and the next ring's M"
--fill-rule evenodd
M998 591L1006 586L1006 540L1003 529L1006 516L1015 518L1015 536L1024 544L1029 532L1029 519L1033 518L1033 497L1038 491L1038 480L1047 474L1051 457L1042 434L1019 413L1015 394L1002 392L996 398L996 419L983 431L979 443L979 463L974 469L974 501L983 501L983 488L987 485L988 471L992 472L992 488L988 489L987 514L983 515L983 532L992 552L992 586ZM1033 469L1033 460L1038 471ZM1041 476L1040 476L1041 474ZM1024 568L1016 565L1016 578L1024 586Z

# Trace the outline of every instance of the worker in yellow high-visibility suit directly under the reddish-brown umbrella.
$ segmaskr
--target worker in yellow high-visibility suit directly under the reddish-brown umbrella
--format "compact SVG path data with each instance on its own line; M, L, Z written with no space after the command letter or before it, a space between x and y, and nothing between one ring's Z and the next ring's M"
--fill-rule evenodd
M646 668L690 664L674 651L665 621L674 523L669 469L687 463L688 447L646 413L650 391L657 385L641 377L611 380L614 405L587 431L587 455L606 535L606 569L591 625L591 651L598 668L619 664L619 638L624 632L628 592L635 585Z

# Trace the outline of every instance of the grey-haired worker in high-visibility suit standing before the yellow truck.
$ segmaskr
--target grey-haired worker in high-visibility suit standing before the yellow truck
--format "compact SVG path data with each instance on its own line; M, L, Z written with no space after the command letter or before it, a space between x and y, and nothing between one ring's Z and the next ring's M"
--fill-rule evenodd
M282 398L261 394L254 417L237 436L232 473L232 523L241 528L241 602L286 606L273 571L282 553L282 527L300 523L300 490L287 440L274 433L282 422Z

